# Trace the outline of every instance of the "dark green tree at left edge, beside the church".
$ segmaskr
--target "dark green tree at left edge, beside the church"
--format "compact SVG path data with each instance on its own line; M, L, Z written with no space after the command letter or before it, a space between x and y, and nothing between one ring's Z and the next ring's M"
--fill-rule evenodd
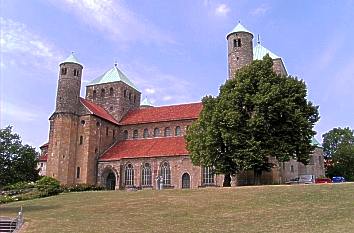
M22 145L11 126L0 129L0 142L0 187L18 181L35 181L38 178L35 149Z

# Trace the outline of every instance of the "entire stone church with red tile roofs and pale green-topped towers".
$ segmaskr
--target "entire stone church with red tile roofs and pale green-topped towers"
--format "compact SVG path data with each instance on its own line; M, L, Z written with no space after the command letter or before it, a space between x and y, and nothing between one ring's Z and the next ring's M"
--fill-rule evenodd
M241 67L269 54L274 71L287 74L283 60L240 23L226 36L229 77ZM96 184L109 189L155 189L222 186L223 175L212 167L194 166L184 135L202 103L153 106L141 101L141 92L114 65L86 86L80 97L83 65L71 54L59 66L54 113L48 143L41 146L38 166L42 175L62 184ZM296 161L278 163L261 177L263 184L284 183L301 174L324 175L318 142L305 166ZM252 172L232 178L232 185L252 184Z

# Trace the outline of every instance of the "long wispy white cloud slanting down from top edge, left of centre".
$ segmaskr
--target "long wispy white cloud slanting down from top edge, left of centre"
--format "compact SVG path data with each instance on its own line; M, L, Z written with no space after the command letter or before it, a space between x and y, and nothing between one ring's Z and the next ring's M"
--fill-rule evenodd
M148 20L130 11L123 1L112 0L52 0L81 21L125 46L131 42L174 43L174 40ZM141 40L144 38L144 40Z

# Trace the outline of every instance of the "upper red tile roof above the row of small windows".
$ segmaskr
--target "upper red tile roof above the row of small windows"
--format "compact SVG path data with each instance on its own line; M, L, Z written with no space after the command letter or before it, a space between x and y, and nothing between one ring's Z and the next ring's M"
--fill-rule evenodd
M119 124L132 125L150 122L196 119L203 108L202 103L140 108L129 112Z

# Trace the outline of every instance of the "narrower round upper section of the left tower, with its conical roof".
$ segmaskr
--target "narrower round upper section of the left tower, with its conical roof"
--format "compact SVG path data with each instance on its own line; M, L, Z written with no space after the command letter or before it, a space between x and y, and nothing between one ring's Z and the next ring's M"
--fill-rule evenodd
M56 113L78 112L83 66L73 53L59 64Z

